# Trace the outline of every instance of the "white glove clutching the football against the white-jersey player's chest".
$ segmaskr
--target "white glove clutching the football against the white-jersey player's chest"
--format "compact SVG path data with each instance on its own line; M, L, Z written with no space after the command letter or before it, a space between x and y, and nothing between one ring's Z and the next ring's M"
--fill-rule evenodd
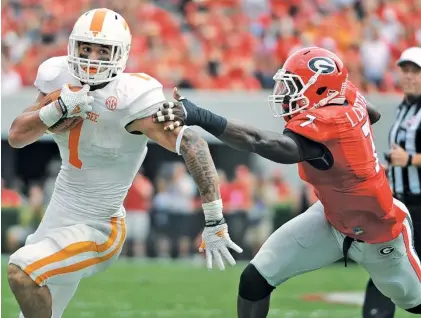
M86 119L87 112L92 110L94 98L88 96L89 85L83 85L83 88L77 92L70 90L68 84L64 84L58 101L43 107L39 111L41 121L51 127L62 118L82 117Z

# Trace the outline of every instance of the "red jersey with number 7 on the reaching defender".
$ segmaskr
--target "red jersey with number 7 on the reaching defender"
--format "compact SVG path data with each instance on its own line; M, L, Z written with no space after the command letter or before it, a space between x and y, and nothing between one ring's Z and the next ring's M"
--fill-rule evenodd
M386 242L401 233L406 214L394 206L379 164L367 102L353 86L346 97L348 104L306 111L286 128L323 144L333 157L327 170L298 164L300 178L313 185L332 226L367 243Z

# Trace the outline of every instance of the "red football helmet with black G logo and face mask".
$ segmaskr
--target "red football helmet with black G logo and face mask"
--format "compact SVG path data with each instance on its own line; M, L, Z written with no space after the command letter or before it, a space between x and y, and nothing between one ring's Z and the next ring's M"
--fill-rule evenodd
M293 53L273 77L268 101L275 117L345 101L348 71L334 53L308 47Z

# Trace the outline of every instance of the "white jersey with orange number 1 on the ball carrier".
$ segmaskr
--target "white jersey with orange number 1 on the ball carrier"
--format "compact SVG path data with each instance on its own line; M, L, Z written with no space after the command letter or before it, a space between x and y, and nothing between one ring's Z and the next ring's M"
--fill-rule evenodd
M63 84L82 86L67 69L67 57L53 57L38 69L35 86L44 94ZM127 132L137 118L151 116L165 101L162 85L139 73L123 73L95 98L88 118L72 130L54 134L62 165L50 204L60 213L89 218L124 216L123 200L147 153L148 138Z

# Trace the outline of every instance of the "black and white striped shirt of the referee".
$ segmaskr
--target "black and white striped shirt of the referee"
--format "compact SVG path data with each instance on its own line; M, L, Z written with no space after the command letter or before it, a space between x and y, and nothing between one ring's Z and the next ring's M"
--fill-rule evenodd
M421 153L421 99L413 104L403 101L389 132L389 146L395 143L410 154ZM390 167L389 182L397 195L421 194L421 167Z

